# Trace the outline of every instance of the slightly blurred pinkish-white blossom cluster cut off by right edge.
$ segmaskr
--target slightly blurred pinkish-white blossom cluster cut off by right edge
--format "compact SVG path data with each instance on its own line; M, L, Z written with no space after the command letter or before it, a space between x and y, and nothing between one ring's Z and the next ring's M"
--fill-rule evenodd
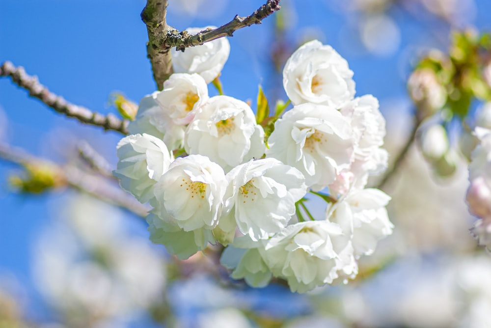
M491 251L491 130L476 127L474 134L479 144L469 164L470 186L466 200L469 212L479 218L471 232L479 245Z

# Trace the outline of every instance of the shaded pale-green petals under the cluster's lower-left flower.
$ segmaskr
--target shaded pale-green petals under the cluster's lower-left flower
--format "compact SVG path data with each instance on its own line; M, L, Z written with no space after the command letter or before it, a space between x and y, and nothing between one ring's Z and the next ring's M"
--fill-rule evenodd
M205 249L208 243L215 243L211 230L184 231L177 224L163 220L155 214L148 215L146 220L149 224L150 240L155 244L164 245L167 251L175 254L180 260Z

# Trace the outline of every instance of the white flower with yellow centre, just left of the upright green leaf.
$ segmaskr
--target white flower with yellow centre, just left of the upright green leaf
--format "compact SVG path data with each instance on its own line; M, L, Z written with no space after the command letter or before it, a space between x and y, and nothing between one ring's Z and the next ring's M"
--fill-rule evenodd
M264 154L264 131L245 102L215 96L188 126L185 149L188 154L208 156L228 171Z

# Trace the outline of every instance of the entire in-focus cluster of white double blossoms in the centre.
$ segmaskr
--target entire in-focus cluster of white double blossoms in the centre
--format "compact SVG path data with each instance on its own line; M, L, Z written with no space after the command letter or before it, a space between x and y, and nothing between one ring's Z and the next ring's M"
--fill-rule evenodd
M179 55L180 73L141 100L117 146L121 187L153 206L150 239L179 259L228 245L222 264L255 287L274 276L306 292L354 277L356 259L393 228L390 197L365 189L387 160L377 99L354 98L347 61L308 42L283 71L294 107L266 140L248 104L208 96L229 46L206 45ZM310 214L307 192L328 202L324 217Z

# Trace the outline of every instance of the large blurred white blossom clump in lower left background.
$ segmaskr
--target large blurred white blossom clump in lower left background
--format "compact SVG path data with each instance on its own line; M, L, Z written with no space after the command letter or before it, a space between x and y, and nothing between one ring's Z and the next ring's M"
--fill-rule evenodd
M127 327L164 299L165 262L114 206L78 194L33 247L33 274L63 327ZM140 228L140 227L138 227Z

